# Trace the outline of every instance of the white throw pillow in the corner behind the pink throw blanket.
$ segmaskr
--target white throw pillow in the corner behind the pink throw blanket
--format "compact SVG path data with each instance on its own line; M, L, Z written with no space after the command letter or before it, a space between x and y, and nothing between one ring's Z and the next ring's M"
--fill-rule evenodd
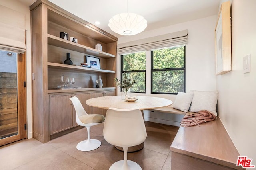
M194 93L190 111L198 112L200 110L207 110L217 116L216 107L218 100L218 91L197 91L193 90Z

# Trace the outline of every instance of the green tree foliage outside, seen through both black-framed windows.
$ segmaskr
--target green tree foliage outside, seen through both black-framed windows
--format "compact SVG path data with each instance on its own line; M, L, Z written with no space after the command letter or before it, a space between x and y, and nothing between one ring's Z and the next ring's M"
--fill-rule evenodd
M184 91L185 47L173 47L153 51L152 89L156 93L178 93ZM141 70L141 71L140 71ZM145 92L146 51L123 55L122 71L137 71L123 74L136 83L132 92Z

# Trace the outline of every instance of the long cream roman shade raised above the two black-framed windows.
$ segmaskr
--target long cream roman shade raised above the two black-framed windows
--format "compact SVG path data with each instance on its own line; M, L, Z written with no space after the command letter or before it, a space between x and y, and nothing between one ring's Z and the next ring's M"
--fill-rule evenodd
M119 54L134 53L151 49L184 45L188 42L188 30L130 41L118 45Z

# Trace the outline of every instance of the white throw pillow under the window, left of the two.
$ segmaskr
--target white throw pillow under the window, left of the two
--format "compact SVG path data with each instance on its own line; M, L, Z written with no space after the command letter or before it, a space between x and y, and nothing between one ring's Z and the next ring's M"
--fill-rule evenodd
M192 98L192 93L178 92L172 107L180 111L188 112Z

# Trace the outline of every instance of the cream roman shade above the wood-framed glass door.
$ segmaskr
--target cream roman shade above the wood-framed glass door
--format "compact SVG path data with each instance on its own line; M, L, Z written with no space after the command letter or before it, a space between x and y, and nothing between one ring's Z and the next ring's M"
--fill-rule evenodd
M25 14L0 5L0 50L24 53Z

